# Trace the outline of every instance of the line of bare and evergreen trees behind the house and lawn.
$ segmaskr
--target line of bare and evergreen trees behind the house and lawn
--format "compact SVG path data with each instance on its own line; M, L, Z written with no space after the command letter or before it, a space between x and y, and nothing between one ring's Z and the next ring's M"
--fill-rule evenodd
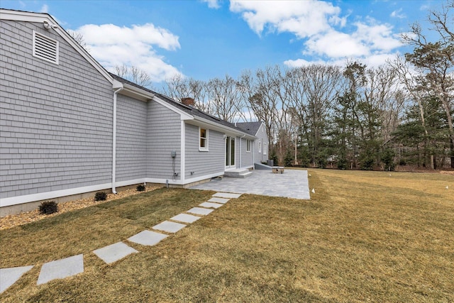
M163 93L192 97L226 121L264 121L279 165L394 170L454 167L454 1L402 35L412 53L381 67L279 65L209 81L175 76ZM428 38L435 36L434 40Z

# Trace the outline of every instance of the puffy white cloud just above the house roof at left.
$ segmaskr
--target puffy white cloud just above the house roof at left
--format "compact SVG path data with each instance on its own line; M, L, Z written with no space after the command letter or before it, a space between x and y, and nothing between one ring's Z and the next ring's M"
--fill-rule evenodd
M155 48L177 50L178 36L151 23L119 27L114 24L87 24L76 30L84 36L90 54L108 70L116 65L130 65L148 72L153 82L180 74L167 64Z

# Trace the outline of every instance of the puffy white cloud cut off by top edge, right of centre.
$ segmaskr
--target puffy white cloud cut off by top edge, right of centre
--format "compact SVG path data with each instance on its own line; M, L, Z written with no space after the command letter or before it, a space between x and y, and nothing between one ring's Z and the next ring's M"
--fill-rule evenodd
M238 1L231 0L230 10L241 13L249 27L261 35L270 31L294 33L306 38L331 28L330 23L345 22L338 17L337 6L323 1Z

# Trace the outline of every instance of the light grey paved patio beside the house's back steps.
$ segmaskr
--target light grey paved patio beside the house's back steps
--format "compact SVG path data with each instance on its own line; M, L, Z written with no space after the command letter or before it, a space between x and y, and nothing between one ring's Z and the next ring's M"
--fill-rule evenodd
M273 174L271 170L254 170L253 175L247 178L223 177L222 180L211 180L195 185L191 189L311 199L307 170L286 169L283 174Z

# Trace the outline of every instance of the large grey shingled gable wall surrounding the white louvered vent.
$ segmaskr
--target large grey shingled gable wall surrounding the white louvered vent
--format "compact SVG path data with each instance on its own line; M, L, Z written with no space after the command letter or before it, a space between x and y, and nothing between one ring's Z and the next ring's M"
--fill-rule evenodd
M59 41L59 65L33 57L33 31ZM111 83L42 23L0 35L0 198L111 182Z

